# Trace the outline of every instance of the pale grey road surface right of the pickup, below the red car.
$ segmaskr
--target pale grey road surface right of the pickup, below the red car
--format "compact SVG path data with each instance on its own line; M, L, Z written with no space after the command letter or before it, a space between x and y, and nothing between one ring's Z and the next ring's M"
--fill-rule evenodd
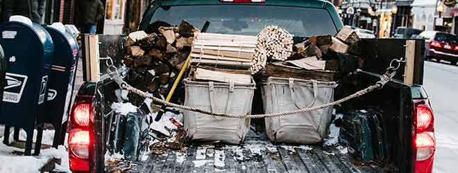
M458 66L425 62L424 87L434 111L434 171L458 172Z

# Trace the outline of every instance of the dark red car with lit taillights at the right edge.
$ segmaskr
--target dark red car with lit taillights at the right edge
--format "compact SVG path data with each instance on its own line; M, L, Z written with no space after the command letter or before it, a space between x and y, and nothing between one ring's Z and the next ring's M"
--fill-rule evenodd
M425 31L418 35L425 39L425 56L427 60L432 58L437 61L446 60L451 64L458 62L458 37L439 31Z

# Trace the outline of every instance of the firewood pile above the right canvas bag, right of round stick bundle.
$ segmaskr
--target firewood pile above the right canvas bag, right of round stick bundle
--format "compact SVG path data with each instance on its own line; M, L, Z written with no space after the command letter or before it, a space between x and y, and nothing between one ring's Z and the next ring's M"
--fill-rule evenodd
M262 71L266 78L299 78L304 80L337 80L339 60L337 54L359 55L361 39L349 26L343 27L335 37L320 35L307 37L294 45L293 54L285 61L272 62Z

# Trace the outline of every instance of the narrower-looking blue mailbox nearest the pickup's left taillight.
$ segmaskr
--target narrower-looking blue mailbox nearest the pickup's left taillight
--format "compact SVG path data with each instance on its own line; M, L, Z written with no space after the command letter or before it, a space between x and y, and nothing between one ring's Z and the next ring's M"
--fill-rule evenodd
M71 104L74 86L74 73L78 57L76 39L65 30L65 26L55 23L44 27L51 35L54 43L54 57L49 74L49 87L46 102L46 113L40 115L40 122L49 122L54 125L53 147L62 145L62 124L67 121L67 110Z

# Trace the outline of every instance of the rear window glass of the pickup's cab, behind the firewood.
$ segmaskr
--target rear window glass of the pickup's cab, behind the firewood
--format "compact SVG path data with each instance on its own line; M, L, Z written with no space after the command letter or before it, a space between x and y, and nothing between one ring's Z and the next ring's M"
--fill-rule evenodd
M268 25L284 28L296 37L337 33L327 10L290 6L166 6L154 11L149 24L166 22L176 26L181 19L186 19L197 28L202 28L205 21L210 21L208 33L257 35Z

